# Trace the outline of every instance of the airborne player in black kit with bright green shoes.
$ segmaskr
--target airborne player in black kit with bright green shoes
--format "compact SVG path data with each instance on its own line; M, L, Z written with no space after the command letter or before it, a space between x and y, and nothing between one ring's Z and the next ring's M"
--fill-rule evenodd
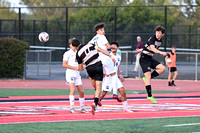
M165 67L158 62L157 60L153 59L153 55L155 53L161 54L166 56L166 52L162 52L158 50L162 43L162 37L165 35L165 28L162 26L156 27L156 33L153 37L151 37L147 43L145 44L141 57L140 57L140 65L142 67L144 76L143 81L145 83L145 88L147 90L147 100L150 100L152 103L157 103L155 98L152 96L151 90L151 79L157 77L161 73L165 71ZM151 73L151 69L154 71Z

